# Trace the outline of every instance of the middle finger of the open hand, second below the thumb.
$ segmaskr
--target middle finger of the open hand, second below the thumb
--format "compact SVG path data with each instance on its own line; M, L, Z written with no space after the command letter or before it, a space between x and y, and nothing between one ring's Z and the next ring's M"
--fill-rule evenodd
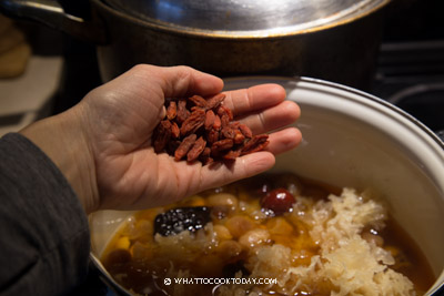
M292 101L284 101L263 112L248 115L240 121L246 124L253 134L261 134L294 123L301 115L301 109Z

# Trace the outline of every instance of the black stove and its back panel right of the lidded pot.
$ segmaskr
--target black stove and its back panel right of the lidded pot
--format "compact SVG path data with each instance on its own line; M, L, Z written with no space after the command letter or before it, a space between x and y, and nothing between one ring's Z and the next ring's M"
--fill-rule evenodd
M370 92L444 135L444 2L395 1ZM442 136L442 139L444 139Z

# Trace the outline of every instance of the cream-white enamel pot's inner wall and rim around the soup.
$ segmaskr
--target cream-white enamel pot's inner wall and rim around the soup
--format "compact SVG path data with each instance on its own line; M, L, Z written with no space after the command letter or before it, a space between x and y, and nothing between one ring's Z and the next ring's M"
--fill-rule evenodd
M299 103L296 122L303 141L276 159L275 172L293 172L337 187L371 188L387 203L391 216L425 254L438 295L444 283L444 143L396 106L340 84L281 78L238 78L225 89L279 83ZM131 212L103 211L90 216L92 259L105 280L124 292L99 258Z

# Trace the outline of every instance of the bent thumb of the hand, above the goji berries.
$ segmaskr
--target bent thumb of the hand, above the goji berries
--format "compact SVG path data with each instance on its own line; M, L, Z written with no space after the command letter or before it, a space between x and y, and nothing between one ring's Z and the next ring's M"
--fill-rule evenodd
M190 67L161 68L142 65L150 78L157 78L165 96L186 96L193 94L211 95L222 91L223 81Z

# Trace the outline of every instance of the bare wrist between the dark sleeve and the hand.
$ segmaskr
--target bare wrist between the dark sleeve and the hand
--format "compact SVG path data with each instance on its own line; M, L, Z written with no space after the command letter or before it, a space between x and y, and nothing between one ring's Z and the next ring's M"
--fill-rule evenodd
M59 167L87 214L98 207L94 161L77 108L43 119L20 133L39 146Z

